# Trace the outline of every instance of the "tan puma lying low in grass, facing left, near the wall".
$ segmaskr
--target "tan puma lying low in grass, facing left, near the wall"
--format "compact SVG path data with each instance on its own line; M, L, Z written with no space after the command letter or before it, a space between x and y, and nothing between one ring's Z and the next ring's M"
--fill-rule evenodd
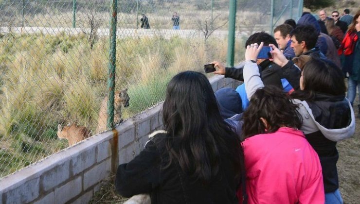
M74 145L81 140L89 138L91 136L90 130L84 126L77 126L75 124L61 127L60 124L57 125L57 137L59 139L67 139L69 146Z

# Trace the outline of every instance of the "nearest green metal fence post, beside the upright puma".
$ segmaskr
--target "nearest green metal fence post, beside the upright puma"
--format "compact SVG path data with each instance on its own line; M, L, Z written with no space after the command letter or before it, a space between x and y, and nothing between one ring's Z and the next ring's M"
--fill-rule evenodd
M109 50L109 75L108 75L108 121L107 128L114 128L114 95L115 95L115 62L116 62L116 23L117 23L117 0L111 2L110 18L110 50Z

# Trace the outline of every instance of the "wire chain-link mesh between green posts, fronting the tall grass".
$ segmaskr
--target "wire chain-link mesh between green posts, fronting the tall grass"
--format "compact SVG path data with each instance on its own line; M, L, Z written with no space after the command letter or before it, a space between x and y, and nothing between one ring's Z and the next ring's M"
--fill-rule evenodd
M295 18L298 3L238 0L235 64L244 39ZM117 6L115 123L162 102L176 73L225 62L229 1ZM0 0L0 178L107 130L111 14L111 0Z

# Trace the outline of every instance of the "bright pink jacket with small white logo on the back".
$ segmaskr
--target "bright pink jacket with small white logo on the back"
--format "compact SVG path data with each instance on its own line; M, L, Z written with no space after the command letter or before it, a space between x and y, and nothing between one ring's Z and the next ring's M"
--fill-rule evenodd
M282 127L243 146L249 204L324 204L319 157L301 131Z

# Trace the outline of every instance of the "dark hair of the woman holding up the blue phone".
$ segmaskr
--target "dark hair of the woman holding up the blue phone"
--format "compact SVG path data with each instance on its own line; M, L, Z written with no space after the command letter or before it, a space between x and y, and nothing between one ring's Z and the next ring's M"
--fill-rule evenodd
M304 90L291 93L294 99L312 101L315 93L344 96L346 86L342 70L333 62L316 58L308 61L303 69Z

